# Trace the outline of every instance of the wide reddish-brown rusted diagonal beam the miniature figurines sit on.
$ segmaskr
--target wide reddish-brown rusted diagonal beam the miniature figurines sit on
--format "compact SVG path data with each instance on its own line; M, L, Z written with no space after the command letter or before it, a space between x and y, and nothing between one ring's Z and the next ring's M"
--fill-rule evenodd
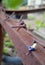
M6 14L1 12L0 14L0 24L3 26L5 31L9 34L10 38L14 43L14 47L17 49L19 56L22 58L24 65L45 65L45 49L38 44L38 48L36 51L31 52L29 55L28 53L28 46L31 46L35 41L39 39L35 38L31 34L31 32L27 31L24 28L12 28L11 26L16 26L18 22L16 22L11 17L6 19ZM45 41L39 40L38 43L45 44Z

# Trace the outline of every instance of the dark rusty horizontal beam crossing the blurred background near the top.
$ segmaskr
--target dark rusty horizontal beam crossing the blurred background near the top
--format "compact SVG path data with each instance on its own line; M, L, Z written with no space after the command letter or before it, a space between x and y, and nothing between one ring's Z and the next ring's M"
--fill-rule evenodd
M7 13L15 12L15 14L22 15L22 14L28 14L28 13L44 12L45 7L31 8L31 9L25 9L25 10L7 10L7 9L5 9L5 11Z

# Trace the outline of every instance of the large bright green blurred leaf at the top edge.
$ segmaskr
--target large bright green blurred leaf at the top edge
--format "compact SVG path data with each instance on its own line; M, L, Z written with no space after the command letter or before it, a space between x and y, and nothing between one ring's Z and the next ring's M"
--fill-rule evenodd
M23 0L2 0L6 8L15 9L22 5Z

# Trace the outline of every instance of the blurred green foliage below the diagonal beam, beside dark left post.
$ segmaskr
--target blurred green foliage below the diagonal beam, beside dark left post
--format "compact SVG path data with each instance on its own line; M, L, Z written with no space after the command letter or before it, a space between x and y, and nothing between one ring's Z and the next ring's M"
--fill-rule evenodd
M3 54L8 55L8 51L10 48L13 49L14 45L13 45L11 39L9 38L8 34L5 32Z

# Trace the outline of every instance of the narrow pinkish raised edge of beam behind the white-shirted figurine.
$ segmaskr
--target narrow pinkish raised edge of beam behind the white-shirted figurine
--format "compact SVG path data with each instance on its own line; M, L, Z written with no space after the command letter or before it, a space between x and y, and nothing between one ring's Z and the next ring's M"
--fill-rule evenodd
M33 32L31 32L31 31L30 32L27 31L27 33L34 38L34 41L36 41L38 44L40 44L41 46L43 46L45 48L45 40L43 40L42 38L34 35Z

